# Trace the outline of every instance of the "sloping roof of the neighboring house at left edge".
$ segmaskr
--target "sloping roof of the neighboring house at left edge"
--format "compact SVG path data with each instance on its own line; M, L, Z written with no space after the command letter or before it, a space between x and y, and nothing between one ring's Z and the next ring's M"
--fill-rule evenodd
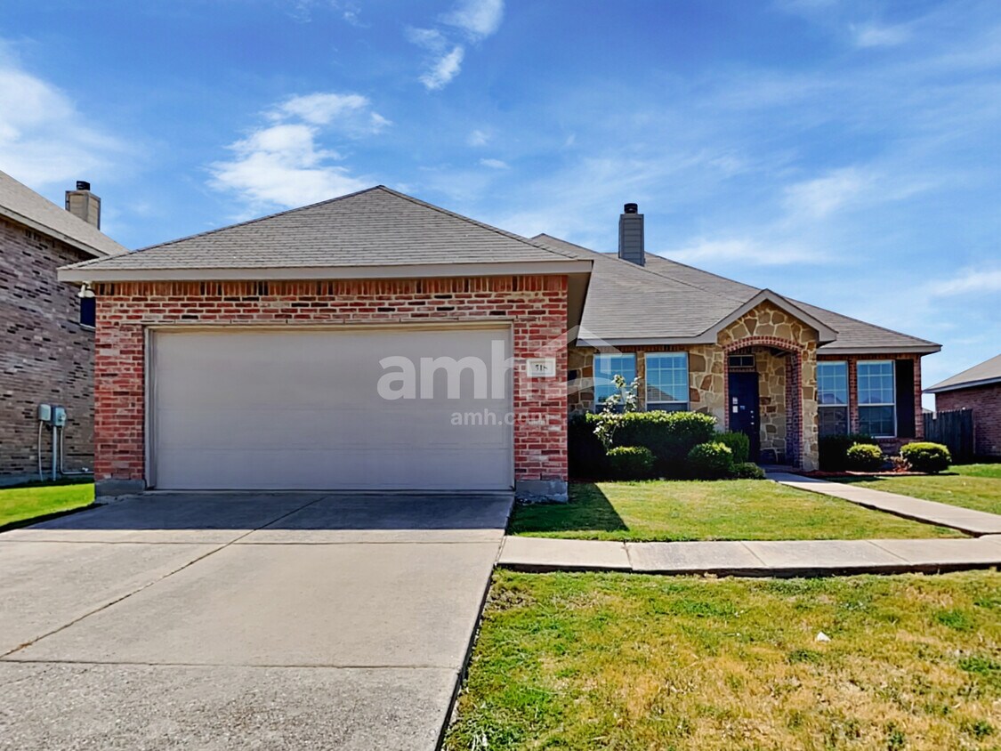
M88 224L65 208L57 206L2 170L0 216L6 216L98 258L128 252L128 248L119 245L93 224Z

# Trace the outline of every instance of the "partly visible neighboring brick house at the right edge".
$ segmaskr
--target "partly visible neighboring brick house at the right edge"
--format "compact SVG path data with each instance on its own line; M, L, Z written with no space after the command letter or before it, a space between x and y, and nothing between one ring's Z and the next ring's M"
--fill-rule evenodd
M973 453L1001 457L1001 354L925 391L937 412L972 410Z

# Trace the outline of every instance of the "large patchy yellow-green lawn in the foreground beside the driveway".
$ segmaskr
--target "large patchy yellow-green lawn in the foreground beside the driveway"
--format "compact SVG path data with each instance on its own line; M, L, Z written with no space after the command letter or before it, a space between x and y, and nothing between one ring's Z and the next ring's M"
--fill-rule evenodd
M996 571L496 572L445 748L997 749L999 593Z

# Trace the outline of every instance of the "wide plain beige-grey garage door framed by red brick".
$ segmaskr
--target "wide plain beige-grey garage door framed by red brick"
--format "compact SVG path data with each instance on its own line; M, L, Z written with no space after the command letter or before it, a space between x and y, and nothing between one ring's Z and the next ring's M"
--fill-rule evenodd
M510 351L496 327L158 330L151 481L511 489Z

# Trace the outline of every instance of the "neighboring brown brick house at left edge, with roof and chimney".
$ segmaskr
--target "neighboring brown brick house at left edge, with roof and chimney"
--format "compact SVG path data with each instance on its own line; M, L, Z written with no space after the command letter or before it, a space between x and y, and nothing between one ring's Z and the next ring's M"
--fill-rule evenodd
M65 469L93 467L93 298L59 266L126 252L101 233L100 199L77 183L66 208L0 172L0 479L37 477L40 404L66 408ZM82 217L82 218L81 218ZM42 455L51 451L43 433ZM46 466L46 470L49 467Z

